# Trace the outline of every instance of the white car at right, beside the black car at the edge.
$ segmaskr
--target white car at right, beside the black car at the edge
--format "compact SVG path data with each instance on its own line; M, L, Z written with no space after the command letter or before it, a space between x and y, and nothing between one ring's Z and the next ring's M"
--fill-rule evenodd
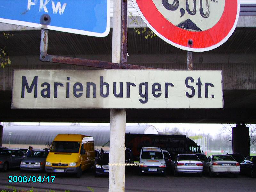
M230 155L212 155L204 163L204 171L208 172L210 177L228 173L237 177L240 172L240 164Z

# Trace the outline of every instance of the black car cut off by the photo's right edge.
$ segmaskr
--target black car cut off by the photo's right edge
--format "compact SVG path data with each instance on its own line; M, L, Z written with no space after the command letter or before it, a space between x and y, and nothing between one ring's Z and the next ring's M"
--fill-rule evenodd
M256 156L248 156L242 163L240 163L240 173L256 176Z

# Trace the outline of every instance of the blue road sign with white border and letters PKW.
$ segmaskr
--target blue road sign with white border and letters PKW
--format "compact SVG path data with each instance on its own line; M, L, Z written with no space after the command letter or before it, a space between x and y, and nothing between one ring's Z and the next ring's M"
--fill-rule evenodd
M110 0L0 0L0 22L104 37Z

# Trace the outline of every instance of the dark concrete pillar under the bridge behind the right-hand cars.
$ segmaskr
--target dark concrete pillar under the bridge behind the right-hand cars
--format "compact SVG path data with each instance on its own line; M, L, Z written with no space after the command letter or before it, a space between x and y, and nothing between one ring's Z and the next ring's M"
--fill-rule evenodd
M245 157L250 155L249 128L245 124L236 124L232 127L233 153L241 153Z

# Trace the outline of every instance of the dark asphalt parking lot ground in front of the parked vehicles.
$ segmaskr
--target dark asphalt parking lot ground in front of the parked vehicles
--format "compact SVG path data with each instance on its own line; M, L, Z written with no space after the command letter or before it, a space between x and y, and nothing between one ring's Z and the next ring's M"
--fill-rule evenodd
M0 189L13 191L8 186L14 186L15 189L37 189L37 191L88 191L88 192L108 192L108 177L95 178L93 171L83 172L81 178L75 178L70 175L57 175L53 182L43 183L9 183L9 176L46 176L45 172L21 172L19 169L9 170L8 172L0 172ZM207 176L197 177L194 175L182 175L174 177L167 174L166 177L161 175L144 175L139 176L134 173L125 175L125 191L127 192L181 192L181 191L255 191L256 179L239 175L233 178L232 175L218 176L209 178Z

